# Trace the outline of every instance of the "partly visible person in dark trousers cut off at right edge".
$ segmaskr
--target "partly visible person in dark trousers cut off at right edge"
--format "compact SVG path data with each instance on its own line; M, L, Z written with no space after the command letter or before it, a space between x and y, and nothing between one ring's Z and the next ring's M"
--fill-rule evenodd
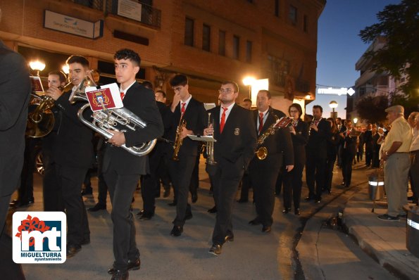
M419 113L415 113L414 121L412 120L411 125L413 125L412 132L412 144L409 149L411 153L411 170L409 174L411 175L411 189L413 191L413 202L418 204L419 199ZM413 115L411 113L411 115Z

